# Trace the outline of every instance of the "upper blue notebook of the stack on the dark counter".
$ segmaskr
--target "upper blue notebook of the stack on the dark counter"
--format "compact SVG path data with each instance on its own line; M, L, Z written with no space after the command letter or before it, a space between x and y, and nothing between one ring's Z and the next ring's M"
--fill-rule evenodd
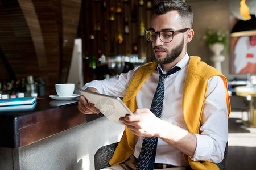
M0 99L0 107L7 106L7 105L33 104L35 103L35 101L36 101L36 97Z

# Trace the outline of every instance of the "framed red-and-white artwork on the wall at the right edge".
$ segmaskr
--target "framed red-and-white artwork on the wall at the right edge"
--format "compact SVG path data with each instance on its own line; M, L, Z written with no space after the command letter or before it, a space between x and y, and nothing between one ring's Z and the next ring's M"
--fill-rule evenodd
M250 16L249 20L230 19L230 72L233 74L256 73L256 17Z

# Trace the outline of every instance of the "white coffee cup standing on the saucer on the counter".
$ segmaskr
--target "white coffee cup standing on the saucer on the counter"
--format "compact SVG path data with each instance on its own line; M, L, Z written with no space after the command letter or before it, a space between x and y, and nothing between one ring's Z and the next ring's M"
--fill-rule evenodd
M72 84L72 83L55 84L55 90L60 97L72 96L75 90L75 84Z

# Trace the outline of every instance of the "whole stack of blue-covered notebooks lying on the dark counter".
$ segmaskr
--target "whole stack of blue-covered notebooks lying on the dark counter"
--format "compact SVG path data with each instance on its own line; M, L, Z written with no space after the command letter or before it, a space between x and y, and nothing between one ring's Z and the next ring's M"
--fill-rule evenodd
M36 105L36 97L0 99L0 111L30 110Z

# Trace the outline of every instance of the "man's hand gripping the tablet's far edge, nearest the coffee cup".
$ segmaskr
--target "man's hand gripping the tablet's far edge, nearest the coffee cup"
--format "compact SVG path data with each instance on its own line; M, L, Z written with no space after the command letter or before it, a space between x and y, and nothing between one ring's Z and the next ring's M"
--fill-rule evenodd
M96 88L88 87L86 90L98 92ZM94 114L94 113L100 113L100 111L94 106L94 104L90 103L88 99L85 98L85 96L80 96L79 102L78 102L78 108L79 111L81 111L84 114Z

